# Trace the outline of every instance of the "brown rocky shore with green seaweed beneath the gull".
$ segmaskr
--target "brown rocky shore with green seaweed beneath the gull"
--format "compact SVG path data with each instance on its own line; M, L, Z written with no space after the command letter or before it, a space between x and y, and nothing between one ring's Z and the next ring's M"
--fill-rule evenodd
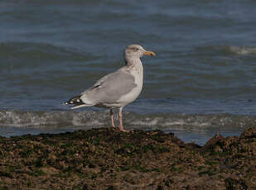
M112 128L0 137L0 189L256 189L256 127L204 146Z

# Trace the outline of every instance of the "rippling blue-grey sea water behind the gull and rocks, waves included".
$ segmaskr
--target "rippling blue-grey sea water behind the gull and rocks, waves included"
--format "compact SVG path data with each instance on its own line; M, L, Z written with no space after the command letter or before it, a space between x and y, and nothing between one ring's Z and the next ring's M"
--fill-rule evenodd
M254 126L255 7L253 0L2 0L0 135L106 126L107 111L70 112L62 102L123 66L132 43L157 56L142 58L142 94L124 108L128 127L200 143L201 134Z

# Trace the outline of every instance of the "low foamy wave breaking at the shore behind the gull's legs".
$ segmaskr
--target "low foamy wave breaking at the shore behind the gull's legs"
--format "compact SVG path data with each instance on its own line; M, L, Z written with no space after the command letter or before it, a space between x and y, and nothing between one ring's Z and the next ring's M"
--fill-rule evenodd
M173 127L250 127L256 123L256 116L230 114L146 114L123 112L126 126L140 129L168 129ZM109 112L21 112L1 111L1 126L11 127L75 127L85 129L110 126Z

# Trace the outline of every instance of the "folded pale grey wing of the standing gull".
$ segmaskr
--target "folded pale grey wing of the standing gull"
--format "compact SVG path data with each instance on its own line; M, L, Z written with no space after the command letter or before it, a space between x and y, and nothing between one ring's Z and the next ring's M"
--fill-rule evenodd
M115 103L120 97L131 92L137 84L132 74L119 69L100 78L92 88L82 93L81 99L89 104Z

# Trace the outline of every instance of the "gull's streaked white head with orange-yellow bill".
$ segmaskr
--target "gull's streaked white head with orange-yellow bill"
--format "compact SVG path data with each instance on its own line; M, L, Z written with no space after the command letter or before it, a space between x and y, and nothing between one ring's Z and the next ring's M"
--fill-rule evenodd
M143 55L155 56L156 54L152 51L147 51L142 48L141 45L128 45L124 50L125 59L141 58Z

